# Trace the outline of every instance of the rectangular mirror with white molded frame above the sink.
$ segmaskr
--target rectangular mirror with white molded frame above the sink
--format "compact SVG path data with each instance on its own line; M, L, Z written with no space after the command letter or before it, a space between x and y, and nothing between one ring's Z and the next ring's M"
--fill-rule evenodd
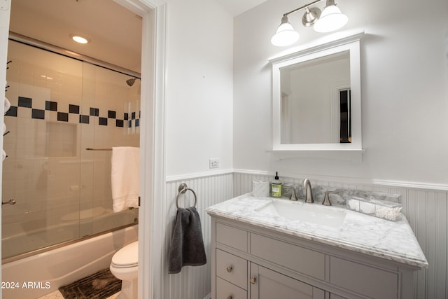
M362 151L360 38L273 57L273 151Z

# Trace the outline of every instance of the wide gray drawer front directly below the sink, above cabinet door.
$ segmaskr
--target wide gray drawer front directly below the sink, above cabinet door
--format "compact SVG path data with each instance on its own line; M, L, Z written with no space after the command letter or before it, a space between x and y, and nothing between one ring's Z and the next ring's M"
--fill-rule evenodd
M325 279L325 254L251 233L251 254L318 279Z

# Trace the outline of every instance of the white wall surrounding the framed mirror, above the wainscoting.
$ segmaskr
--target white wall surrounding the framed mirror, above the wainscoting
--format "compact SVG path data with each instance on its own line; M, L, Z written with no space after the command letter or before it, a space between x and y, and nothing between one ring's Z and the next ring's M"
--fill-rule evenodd
M268 58L285 50L272 46L270 38L283 13L307 2L268 0L235 18L233 167L448 188L446 0L431 1L430 9L422 9L418 1L337 1L349 16L342 30L367 33L361 41L363 148L367 150L362 162L277 161L267 151L272 143ZM289 18L301 35L293 46L325 35L303 27L301 19L302 12Z

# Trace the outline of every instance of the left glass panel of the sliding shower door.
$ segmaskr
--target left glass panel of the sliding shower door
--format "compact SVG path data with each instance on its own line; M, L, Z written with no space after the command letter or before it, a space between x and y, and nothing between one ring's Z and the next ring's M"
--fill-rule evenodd
M79 211L80 137L69 103L82 99L83 63L9 42L3 148L3 258L79 237L65 214ZM67 121L63 121L67 120Z

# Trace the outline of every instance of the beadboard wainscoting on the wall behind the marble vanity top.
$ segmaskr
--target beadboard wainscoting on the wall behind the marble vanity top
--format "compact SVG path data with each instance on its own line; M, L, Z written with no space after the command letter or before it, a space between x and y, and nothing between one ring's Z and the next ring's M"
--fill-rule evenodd
M281 176L281 174L279 174ZM265 172L235 171L234 197L251 192L253 180L272 181ZM283 183L298 185L304 178L280 177ZM428 269L416 272L417 296L414 299L448 298L448 186L356 179L309 177L312 186L328 186L400 194L403 213L409 221L429 263ZM411 299L411 298L406 298Z

